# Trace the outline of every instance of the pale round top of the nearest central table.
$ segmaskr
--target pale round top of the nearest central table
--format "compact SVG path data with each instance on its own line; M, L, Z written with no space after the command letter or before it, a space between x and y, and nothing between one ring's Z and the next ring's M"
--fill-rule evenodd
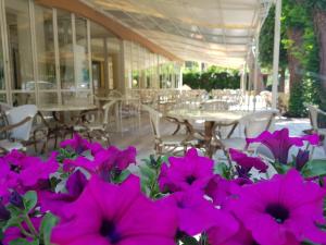
M201 109L175 109L166 113L167 117L179 120L204 120L229 124L238 122L244 115L250 114L248 111L208 111Z

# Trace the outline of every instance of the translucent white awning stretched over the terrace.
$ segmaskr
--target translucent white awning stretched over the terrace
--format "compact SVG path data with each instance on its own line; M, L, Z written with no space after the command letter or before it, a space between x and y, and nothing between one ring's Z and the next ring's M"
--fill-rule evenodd
M274 0L85 0L187 61L240 68Z

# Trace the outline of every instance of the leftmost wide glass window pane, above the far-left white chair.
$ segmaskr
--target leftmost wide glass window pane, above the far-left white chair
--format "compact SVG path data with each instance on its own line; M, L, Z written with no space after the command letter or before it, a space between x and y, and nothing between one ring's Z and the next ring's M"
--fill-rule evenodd
M5 17L11 86L13 89L34 90L28 1L5 0Z

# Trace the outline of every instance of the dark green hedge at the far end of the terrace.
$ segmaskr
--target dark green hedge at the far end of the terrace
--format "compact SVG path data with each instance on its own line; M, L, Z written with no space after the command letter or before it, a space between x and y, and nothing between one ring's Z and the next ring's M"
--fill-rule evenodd
M237 70L211 66L206 72L187 72L183 76L184 84L192 89L237 89L240 88L240 75Z

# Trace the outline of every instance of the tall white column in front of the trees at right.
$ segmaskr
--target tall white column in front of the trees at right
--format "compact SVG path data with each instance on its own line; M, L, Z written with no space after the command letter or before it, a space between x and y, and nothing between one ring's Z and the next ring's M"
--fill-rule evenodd
M278 66L279 66L279 41L280 41L280 13L281 0L276 0L275 29L274 29L274 54L273 54L273 86L272 108L277 108Z

